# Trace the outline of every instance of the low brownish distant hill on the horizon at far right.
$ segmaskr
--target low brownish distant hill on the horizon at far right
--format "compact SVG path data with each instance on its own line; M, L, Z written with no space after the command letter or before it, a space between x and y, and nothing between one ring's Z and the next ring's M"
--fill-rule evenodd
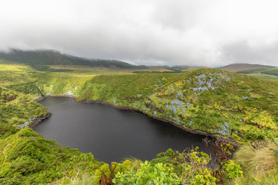
M244 63L238 63L238 64L229 64L224 67L219 67L218 69L224 69L226 71L232 71L232 72L239 72L240 71L260 71L260 70L265 70L265 69L271 69L275 68L272 66L267 66L267 65L260 65L260 64L244 64Z

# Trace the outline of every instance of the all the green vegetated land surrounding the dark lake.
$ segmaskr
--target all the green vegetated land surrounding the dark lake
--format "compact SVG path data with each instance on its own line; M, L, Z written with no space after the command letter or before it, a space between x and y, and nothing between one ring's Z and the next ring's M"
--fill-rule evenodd
M0 62L0 184L275 184L277 82L216 69L96 76ZM41 94L103 100L220 136L211 155L167 150L152 161L105 164L28 127L49 114ZM226 139L221 139L226 138ZM227 142L229 141L229 142ZM211 142L211 141L206 141ZM233 148L242 146L234 153Z

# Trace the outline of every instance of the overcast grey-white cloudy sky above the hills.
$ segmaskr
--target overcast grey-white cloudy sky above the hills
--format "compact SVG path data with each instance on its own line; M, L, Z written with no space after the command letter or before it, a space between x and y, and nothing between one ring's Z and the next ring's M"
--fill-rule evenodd
M146 65L278 66L277 0L1 0L0 50Z

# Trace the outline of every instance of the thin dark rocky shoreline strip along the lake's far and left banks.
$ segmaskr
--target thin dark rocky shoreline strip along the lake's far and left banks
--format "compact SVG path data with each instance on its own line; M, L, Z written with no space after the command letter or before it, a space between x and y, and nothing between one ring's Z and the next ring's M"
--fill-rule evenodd
M145 116L148 116L149 118L153 118L154 120L157 120L157 121L162 121L164 123L167 123L167 124L170 124L170 125L173 125L174 127L179 127L181 130L184 130L186 132L190 132L192 134L199 134L199 135L203 135L203 136L210 136L210 137L213 137L213 138L216 138L218 136L216 136L215 134L211 134L211 133L206 133L204 131L199 131L199 130L190 130L186 127L183 127L177 123L174 123L173 121L169 121L165 118L160 118L160 117L157 117L157 116L153 116L153 115L150 115L150 114L146 114L145 112L142 112L141 110L139 109L134 109L134 108L131 108L131 107L125 107L125 106L116 106L116 105L113 105L111 103L107 103L106 101L104 100L76 100L76 97L75 96L71 96L71 95L45 95L45 96L41 96L40 98L35 98L34 100L36 102L40 101L40 100L43 100L45 97L65 97L65 98L72 98L74 99L74 101L76 103L88 103L88 104L91 104L91 103L99 103L101 105L106 105L106 106L109 106L109 107L113 107L115 109L122 109L122 110L129 110L129 111L133 111L133 112L138 112L140 114L143 114ZM50 113L49 116L51 116L52 114ZM46 116L45 118L48 118L49 116ZM45 118L42 118L40 121L44 120ZM38 121L38 123L40 123L40 121ZM38 123L36 123L35 125L38 125ZM31 125L33 127L35 127L35 125L33 125L33 123L31 123ZM30 127L30 126L29 126ZM33 128L32 127L32 128Z

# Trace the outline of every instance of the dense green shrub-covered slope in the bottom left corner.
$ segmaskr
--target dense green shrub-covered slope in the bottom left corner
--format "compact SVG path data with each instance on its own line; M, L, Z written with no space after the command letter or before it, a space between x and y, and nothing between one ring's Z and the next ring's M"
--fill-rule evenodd
M69 182L76 174L93 176L100 164L91 153L62 148L28 127L0 139L0 184Z

